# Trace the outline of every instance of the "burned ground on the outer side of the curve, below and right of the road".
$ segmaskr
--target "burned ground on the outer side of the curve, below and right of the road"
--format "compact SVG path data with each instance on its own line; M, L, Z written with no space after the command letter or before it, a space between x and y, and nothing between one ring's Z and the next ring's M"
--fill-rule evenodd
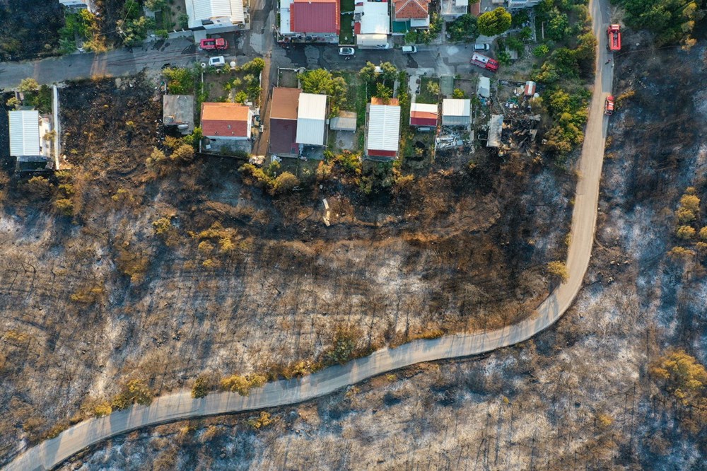
M650 371L673 349L707 364L706 253L670 253L695 245L675 234L686 187L706 221L703 44L678 52L679 80L659 68L676 50L617 61L614 93L626 95L609 122L592 262L555 327L481 358L421 364L269 410L267 426L255 427L255 413L158 426L62 469L133 459L211 469L703 469L704 407L685 405Z

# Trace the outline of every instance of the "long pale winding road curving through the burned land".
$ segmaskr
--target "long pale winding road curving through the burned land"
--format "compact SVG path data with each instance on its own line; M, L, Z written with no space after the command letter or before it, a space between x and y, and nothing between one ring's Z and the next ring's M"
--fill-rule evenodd
M604 16L606 0L592 0L590 8L592 28L599 41L599 50L594 94L579 161L580 178L572 214L572 240L567 256L569 277L566 283L561 284L543 301L530 318L499 330L417 340L396 349L382 349L349 364L332 366L304 378L268 383L262 388L252 390L247 397L231 392L214 392L195 400L188 390L164 395L156 398L149 406L134 406L107 417L88 419L76 424L56 438L25 451L5 469L51 469L83 448L145 426L192 417L296 404L327 395L366 378L423 361L471 356L517 344L556 322L573 303L589 265L607 129L607 119L603 114L604 97L611 90L613 79L613 64L606 64L609 55L604 47L604 28L609 19L608 15Z

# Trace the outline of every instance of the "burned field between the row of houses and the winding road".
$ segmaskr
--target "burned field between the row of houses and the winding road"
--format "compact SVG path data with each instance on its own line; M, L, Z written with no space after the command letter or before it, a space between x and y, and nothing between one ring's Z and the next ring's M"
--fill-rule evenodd
M243 182L242 161L146 165L163 146L154 88L137 76L63 89L70 170L48 192L11 182L4 460L129 378L160 393L204 372L273 371L316 359L342 326L360 329L363 349L496 327L551 288L544 267L564 256L571 210L561 171L479 155L394 190L366 194L340 175L272 198ZM52 209L58 192L72 214Z

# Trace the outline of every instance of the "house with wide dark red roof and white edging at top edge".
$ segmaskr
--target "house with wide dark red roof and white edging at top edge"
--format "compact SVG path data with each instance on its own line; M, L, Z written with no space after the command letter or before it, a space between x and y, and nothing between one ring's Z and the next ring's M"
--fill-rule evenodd
M339 0L280 0L282 40L339 42Z

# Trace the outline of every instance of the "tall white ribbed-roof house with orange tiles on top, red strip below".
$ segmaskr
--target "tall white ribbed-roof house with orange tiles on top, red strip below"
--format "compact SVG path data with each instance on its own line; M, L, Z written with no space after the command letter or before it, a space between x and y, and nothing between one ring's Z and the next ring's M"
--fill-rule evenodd
M397 98L371 98L366 124L366 157L397 158L400 143L400 106Z

